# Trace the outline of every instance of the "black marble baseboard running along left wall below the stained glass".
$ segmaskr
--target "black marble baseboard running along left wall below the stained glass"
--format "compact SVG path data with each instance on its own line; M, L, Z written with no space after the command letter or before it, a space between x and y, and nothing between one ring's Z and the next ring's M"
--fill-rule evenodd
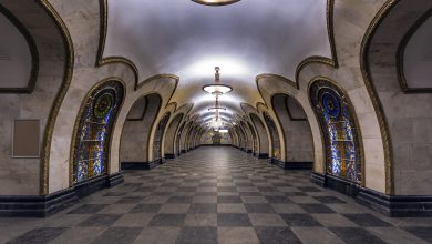
M0 216L47 217L75 204L82 197L123 181L123 175L119 172L91 179L49 195L0 196Z

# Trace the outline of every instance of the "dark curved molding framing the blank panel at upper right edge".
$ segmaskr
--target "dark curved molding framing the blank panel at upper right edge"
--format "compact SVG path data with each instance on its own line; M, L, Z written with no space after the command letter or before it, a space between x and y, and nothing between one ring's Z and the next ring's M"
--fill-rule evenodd
M398 70L398 80L401 85L401 89L403 93L410 94L410 93L432 93L432 88L410 88L405 78L405 71L404 71L404 54L408 43L410 42L411 38L415 34L415 32L419 30L421 26L423 26L424 22L429 18L432 17L432 9L428 10L425 13L423 13L415 23L408 30L405 35L403 37L402 41L398 45L397 51L397 70Z

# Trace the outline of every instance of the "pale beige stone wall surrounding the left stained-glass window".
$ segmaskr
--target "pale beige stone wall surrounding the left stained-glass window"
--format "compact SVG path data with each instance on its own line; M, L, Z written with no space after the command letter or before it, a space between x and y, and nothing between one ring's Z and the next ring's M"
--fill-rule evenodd
M70 186L70 149L73 125L81 102L86 92L96 82L115 77L124 81L126 96L113 129L109 172L119 171L119 151L121 132L126 115L134 102L151 92L157 92L163 98L163 105L173 93L177 80L169 77L161 77L146 81L140 81L135 89L135 75L124 63L111 63L96 68L96 54L100 40L100 6L99 1L50 0L50 3L62 17L71 35L74 47L74 69L71 85L62 101L55 122L53 139L49 157L49 192L53 193ZM85 33L85 34L83 34ZM151 156L151 155L150 155Z

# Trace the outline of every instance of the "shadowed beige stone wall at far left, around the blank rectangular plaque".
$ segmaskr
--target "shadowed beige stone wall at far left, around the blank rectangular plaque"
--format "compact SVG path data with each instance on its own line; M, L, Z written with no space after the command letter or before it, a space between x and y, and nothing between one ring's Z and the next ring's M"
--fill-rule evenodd
M0 195L37 195L40 192L41 159L12 157L12 124L17 119L39 120L42 149L49 113L63 81L64 45L54 22L35 2L0 3L27 28L39 53L39 73L33 92L0 94Z

